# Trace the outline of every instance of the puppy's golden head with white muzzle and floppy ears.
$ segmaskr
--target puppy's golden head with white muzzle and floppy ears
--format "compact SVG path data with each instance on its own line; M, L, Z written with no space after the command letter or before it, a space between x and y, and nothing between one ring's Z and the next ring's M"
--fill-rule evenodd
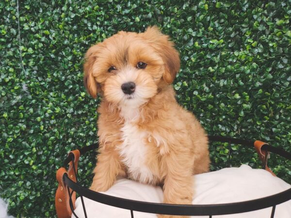
M179 67L174 44L158 28L143 33L120 31L89 48L84 84L94 98L101 93L109 102L139 107L159 86L172 83Z

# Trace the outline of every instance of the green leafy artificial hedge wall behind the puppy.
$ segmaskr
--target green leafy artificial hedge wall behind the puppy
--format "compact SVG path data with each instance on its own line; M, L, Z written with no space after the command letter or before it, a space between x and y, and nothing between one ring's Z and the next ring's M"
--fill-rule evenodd
M98 100L82 83L85 51L117 31L157 25L176 43L181 105L209 134L262 139L291 151L291 0L0 1L0 197L17 217L55 217L55 172L97 141ZM228 147L210 147L212 170ZM231 146L233 165L259 166ZM90 183L94 154L82 158ZM291 183L290 161L272 156ZM289 167L288 167L289 166ZM289 175L289 177L288 177Z

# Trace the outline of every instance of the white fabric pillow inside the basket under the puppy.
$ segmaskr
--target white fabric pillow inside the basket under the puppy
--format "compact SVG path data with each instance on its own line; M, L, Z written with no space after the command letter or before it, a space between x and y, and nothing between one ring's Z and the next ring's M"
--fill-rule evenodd
M195 195L193 204L217 204L249 201L273 195L291 187L288 183L265 170L247 165L194 175ZM143 185L129 179L119 179L113 187L101 192L120 198L145 202L162 202L162 188ZM94 202L84 198L88 218L130 218L130 211ZM241 214L212 216L213 218L269 218L272 208ZM80 197L76 200L75 213L84 218ZM134 218L157 218L155 214L134 211ZM75 218L72 215L72 218ZM193 218L207 218L196 216ZM275 218L291 218L291 201L276 206Z

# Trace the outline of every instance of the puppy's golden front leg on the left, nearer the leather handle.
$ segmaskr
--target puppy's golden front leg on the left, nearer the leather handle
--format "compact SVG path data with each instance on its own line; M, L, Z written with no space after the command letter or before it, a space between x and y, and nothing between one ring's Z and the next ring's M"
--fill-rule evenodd
M107 191L113 186L117 175L125 175L116 151L101 151L97 156L95 173L90 187L93 191Z

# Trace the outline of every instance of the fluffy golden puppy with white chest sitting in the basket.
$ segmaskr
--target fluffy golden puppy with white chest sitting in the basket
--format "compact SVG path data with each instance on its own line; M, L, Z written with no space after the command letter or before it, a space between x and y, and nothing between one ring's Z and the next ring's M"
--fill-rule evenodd
M102 98L92 190L127 176L163 185L165 203L191 204L192 175L207 172L210 159L204 129L176 102L171 83L179 67L173 43L156 27L120 31L89 48L84 84Z

